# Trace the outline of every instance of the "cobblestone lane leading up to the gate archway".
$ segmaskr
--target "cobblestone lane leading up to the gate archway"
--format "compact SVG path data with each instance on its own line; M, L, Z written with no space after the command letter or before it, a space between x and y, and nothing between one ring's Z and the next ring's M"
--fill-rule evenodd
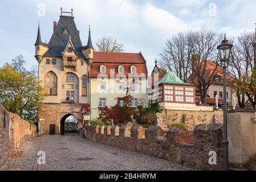
M38 165L38 151L46 164ZM190 170L190 168L119 148L89 142L77 135L43 136L25 142L0 170Z

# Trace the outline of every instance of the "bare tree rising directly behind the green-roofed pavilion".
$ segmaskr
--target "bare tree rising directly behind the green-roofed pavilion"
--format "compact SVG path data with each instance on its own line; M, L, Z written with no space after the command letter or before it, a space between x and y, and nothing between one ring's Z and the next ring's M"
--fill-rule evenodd
M160 67L176 73L181 80L186 81L191 73L192 32L180 32L168 39L160 53Z

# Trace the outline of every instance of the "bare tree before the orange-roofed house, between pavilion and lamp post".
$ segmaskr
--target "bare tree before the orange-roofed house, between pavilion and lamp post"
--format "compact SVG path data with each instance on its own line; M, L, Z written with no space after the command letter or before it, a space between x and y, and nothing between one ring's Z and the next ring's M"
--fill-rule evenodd
M194 31L190 46L196 60L192 63L190 81L195 84L200 93L202 105L206 104L207 90L213 84L217 72L220 72L217 46L221 35L212 31Z

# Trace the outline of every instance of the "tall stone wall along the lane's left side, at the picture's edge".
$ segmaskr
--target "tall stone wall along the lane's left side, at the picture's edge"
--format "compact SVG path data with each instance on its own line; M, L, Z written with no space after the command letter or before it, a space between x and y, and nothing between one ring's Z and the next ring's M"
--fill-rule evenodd
M36 126L0 105L0 166L11 151L36 135Z

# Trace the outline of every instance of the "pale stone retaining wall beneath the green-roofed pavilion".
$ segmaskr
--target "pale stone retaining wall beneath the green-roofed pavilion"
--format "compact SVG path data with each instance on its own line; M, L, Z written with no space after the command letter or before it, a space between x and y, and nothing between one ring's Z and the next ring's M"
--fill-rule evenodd
M186 123L189 131L201 124L223 123L223 111L166 110L155 115L155 121L162 130L176 123Z

